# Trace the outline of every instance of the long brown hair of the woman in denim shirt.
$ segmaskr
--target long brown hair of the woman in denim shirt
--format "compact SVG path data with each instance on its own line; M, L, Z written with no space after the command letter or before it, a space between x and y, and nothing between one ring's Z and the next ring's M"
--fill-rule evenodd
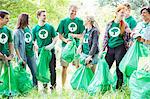
M20 14L18 17L17 29L24 28L29 24L29 15L26 13Z

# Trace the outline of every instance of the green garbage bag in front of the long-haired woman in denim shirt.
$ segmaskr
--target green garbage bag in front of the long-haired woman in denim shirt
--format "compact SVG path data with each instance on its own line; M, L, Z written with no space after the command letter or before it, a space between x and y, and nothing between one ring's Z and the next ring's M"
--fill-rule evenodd
M26 94L30 92L33 88L32 80L30 79L30 74L28 74L25 68L20 64L14 69L16 75L16 81L18 86L18 91L20 94Z

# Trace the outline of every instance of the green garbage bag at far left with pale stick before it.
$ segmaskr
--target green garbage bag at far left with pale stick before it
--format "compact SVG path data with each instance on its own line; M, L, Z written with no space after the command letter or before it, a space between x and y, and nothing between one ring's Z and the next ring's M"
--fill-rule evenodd
M8 65L10 67L8 67ZM18 95L16 77L11 62L4 65L4 73L1 77L0 94L5 96Z

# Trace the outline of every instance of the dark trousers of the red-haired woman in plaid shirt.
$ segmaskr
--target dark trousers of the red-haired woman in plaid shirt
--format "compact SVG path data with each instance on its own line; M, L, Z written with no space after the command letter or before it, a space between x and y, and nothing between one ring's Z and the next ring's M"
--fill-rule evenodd
M113 62L116 60L116 74L118 77L116 89L121 87L122 83L123 83L123 74L119 70L119 63L122 60L122 58L124 57L125 53L126 53L126 49L125 49L124 44L122 44L115 48L108 47L108 51L105 56L105 59L109 65L109 69L111 68Z

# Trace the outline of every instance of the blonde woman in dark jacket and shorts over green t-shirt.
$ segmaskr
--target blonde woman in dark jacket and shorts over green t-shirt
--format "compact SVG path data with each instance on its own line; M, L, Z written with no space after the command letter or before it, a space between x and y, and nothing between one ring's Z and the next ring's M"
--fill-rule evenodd
M85 64L92 67L93 72L95 71L96 64L98 62L99 53L99 30L97 23L93 16L87 16L85 21L85 31L83 33L82 41L78 47L78 53L81 57L85 58Z

